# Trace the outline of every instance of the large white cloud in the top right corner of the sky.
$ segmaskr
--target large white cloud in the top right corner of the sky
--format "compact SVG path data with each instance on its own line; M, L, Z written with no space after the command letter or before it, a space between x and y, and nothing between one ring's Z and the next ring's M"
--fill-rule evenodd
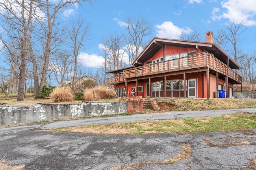
M221 2L223 13L219 8L214 8L211 18L221 20L225 18L230 22L241 22L245 26L256 25L256 0L226 0Z

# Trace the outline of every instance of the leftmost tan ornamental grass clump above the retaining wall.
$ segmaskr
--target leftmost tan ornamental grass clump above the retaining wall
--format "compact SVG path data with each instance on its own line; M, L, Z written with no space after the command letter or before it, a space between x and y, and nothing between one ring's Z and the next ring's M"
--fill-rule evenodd
M56 87L50 94L50 99L53 102L68 102L74 99L74 95L69 86Z

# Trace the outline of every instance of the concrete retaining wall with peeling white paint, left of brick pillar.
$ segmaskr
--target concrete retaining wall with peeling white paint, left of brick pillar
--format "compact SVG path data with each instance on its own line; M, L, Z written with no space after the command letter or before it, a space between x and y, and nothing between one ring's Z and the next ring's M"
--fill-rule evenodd
M127 102L82 102L81 104L47 103L35 104L35 106L0 106L0 126L126 112Z

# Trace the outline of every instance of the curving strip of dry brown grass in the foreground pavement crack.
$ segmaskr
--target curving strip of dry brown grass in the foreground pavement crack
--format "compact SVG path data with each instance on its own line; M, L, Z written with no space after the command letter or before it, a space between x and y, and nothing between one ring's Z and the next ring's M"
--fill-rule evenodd
M167 159L165 161L151 161L146 163L133 163L134 166L127 166L127 167L121 167L121 166L114 166L113 168L110 168L109 170L135 170L137 168L141 168L145 165L166 165L166 164L173 164L177 163L182 159L188 159L191 156L192 148L189 144L182 144L182 153L174 155L173 158Z

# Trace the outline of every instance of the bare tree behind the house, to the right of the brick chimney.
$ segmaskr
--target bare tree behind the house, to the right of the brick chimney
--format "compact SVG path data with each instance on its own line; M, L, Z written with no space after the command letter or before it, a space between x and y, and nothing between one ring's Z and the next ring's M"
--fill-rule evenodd
M238 43L241 42L240 36L246 29L247 27L243 28L243 21L241 21L238 23L232 22L226 25L226 30L224 29L222 31L228 42L232 44L232 49L227 51L234 56L235 62L237 62L237 54L241 53L238 49Z

